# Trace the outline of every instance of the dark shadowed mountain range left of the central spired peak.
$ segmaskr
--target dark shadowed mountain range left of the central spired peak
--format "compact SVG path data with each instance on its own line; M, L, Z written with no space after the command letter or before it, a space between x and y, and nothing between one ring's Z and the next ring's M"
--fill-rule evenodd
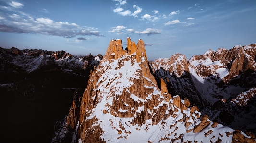
M83 95L90 71L101 59L0 48L0 143L49 143L54 124L67 116L74 92Z

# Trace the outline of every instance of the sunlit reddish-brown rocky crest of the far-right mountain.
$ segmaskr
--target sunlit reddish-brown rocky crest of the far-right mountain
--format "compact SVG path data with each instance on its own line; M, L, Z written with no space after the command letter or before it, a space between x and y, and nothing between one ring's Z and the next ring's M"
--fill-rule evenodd
M230 50L219 48L216 52L208 50L203 55L194 55L189 59L189 65L200 66L195 68L197 74L207 77L210 74L219 74L225 82L230 81L233 77L238 76L241 72L248 69L256 71L255 55L256 44L248 46L235 46ZM217 71L219 68L227 68L227 74ZM224 75L221 75L224 74Z

